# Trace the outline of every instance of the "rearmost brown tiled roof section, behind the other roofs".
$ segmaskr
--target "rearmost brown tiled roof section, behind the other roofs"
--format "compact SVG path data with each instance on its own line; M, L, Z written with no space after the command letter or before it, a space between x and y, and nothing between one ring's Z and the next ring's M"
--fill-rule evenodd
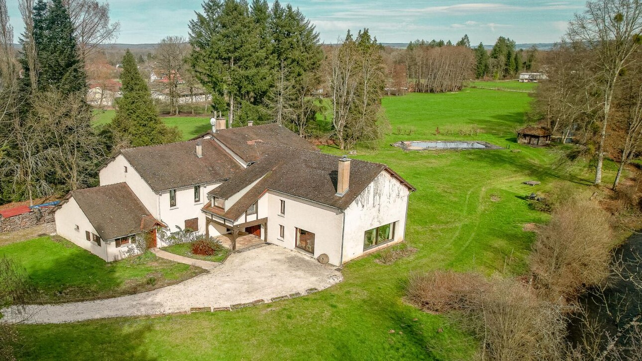
M259 144L318 151L308 140L276 123L223 129L213 136L248 163L261 158Z

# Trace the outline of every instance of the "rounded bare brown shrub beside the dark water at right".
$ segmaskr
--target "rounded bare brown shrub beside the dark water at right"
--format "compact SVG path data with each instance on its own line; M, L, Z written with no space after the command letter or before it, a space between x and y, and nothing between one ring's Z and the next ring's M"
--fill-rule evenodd
M535 284L551 299L573 299L609 273L614 246L609 215L593 201L557 207L530 256Z

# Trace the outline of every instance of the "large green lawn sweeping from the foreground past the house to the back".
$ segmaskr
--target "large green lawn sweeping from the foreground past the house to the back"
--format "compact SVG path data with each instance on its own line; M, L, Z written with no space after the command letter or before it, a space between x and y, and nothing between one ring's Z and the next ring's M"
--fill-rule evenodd
M107 319L21 326L21 359L55 360L447 360L469 358L465 335L442 317L403 301L408 274L431 269L521 274L534 233L522 230L548 216L523 196L560 183L585 187L590 174L557 172L554 149L514 143L528 94L465 89L457 94L386 97L393 132L379 149L355 158L390 165L417 192L410 197L406 240L417 248L393 265L376 255L345 265L330 289L234 312ZM435 135L435 128L478 125L476 136ZM413 128L412 135L395 134ZM511 149L408 152L398 140L486 140ZM514 152L511 150L519 150ZM326 148L335 154L342 152ZM612 177L608 172L607 177ZM541 187L522 185L542 181ZM392 332L394 330L394 332ZM444 349L445 351L438 351Z

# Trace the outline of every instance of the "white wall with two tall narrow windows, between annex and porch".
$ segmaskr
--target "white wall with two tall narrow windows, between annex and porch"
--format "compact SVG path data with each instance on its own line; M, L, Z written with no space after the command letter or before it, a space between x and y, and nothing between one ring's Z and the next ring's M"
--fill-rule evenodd
M198 218L198 233L205 233L205 214L201 208L207 202L207 192L221 185L218 183L209 183L200 185L201 197L199 202L194 202L194 187L178 188L176 190L176 206L169 206L169 190L159 194L159 215L157 219L168 225L170 232L177 231L176 226L180 229L185 228L185 220Z

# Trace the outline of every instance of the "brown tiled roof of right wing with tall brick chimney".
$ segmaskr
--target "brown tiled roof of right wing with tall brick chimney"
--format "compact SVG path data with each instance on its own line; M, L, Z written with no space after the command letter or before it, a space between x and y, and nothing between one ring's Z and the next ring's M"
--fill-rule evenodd
M213 212L209 206L205 206L204 210L222 215L230 220L236 220L268 189L334 208L345 209L382 171L390 172L408 189L414 190L411 185L388 169L386 165L353 159L350 167L349 190L343 196L336 196L338 160L340 159L338 156L266 144L259 146L259 148L263 155L261 160L250 165L244 172L251 172L254 167L257 167L256 169L259 171L254 172L252 176L246 176L243 172L239 172L208 194L227 198L230 189L241 190L261 176L263 179L252 187L245 196L241 197L236 204L230 206L226 212L220 210Z

